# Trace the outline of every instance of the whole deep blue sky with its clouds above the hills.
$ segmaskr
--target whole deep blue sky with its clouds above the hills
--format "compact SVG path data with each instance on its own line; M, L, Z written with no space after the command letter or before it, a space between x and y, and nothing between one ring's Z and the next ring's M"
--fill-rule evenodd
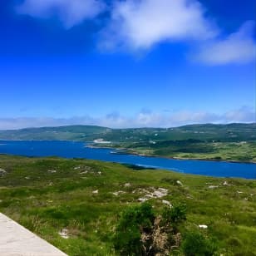
M0 129L255 121L254 9L2 0Z

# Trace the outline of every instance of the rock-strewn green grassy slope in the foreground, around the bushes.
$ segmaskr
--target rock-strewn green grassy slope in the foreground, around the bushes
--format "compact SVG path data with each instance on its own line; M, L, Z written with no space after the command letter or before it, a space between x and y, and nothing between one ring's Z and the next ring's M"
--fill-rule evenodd
M121 211L159 188L168 193L149 199L156 214L163 199L187 204L181 237L196 230L216 239L217 255L256 255L256 180L0 155L0 211L71 256L115 255L112 238ZM177 254L183 255L181 249Z

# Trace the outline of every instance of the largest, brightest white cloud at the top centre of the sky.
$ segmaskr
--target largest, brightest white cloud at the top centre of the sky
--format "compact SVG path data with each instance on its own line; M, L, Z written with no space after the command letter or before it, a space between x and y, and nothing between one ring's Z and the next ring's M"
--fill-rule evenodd
M163 41L204 40L216 34L196 0L126 0L114 5L100 47L144 50Z

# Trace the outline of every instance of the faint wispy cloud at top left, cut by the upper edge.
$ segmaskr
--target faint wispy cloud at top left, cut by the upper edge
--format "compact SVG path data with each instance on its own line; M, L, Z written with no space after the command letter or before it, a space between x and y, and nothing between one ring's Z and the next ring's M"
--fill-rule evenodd
M32 17L58 17L69 28L96 17L105 7L101 0L25 0L17 12Z

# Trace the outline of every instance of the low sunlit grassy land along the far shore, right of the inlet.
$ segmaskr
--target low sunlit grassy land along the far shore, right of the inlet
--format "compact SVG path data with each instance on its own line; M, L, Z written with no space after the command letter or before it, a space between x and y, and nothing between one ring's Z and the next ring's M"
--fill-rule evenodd
M256 162L256 142L187 142L165 141L155 145L144 143L116 145L139 155L164 156L178 159L229 160Z

